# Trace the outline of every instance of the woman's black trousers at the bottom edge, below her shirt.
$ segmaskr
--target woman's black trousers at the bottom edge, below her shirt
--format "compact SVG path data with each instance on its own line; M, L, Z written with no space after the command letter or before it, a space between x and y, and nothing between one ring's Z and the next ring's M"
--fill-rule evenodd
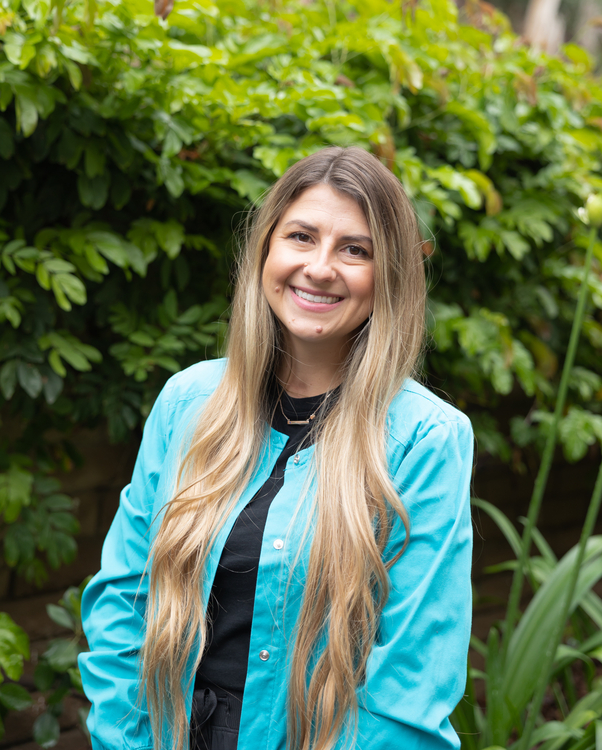
M192 696L190 750L236 750L242 695L201 688Z

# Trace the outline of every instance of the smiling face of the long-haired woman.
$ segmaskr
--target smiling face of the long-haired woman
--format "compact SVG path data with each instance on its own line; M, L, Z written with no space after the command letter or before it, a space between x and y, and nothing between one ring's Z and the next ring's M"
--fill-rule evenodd
M274 228L262 281L291 353L324 342L348 348L373 307L372 239L362 209L329 185L308 188Z

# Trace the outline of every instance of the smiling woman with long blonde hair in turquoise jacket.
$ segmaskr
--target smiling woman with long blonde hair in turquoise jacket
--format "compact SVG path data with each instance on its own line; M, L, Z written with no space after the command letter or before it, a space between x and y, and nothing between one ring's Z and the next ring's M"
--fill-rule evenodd
M256 212L228 358L157 399L84 592L95 748L459 746L472 432L411 379L421 248L358 148Z

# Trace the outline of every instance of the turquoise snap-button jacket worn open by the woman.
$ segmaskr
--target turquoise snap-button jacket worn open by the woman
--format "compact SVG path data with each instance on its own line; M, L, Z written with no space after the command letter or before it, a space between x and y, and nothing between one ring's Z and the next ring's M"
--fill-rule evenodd
M182 443L223 372L223 360L201 362L173 376L146 422L138 459L107 535L100 572L84 591L82 617L90 652L79 664L92 702L88 727L95 750L152 748L149 720L138 704L138 652L148 591L143 576L161 509L174 488ZM253 479L213 548L202 582L207 601L235 518L269 477L287 436L266 426ZM290 565L304 530L291 523L313 447L289 459L284 486L270 506L261 556L239 750L286 750L287 643L303 596L302 550L287 592ZM391 567L391 592L378 639L358 690L355 739L337 750L452 750L460 742L449 715L462 697L471 618L469 483L473 437L468 419L409 380L389 412L390 474L410 517L410 542ZM353 456L349 457L353 460ZM404 541L394 528L385 557ZM281 545L280 541L284 544ZM307 545L306 545L307 547ZM259 654L267 651L265 660ZM194 655L196 656L196 655ZM190 659L184 685L192 686ZM190 711L192 687L187 691ZM161 748L171 747L167 730Z

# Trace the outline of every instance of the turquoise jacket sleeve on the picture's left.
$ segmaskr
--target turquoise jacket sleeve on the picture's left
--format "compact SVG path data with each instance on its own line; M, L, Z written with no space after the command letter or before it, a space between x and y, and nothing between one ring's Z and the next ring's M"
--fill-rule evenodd
M101 570L82 597L90 651L79 657L92 708L88 728L94 750L152 748L149 719L139 690L138 654L148 592L144 574L156 493L169 442L169 385L148 417L132 481L105 539ZM159 503L159 506L161 503Z

